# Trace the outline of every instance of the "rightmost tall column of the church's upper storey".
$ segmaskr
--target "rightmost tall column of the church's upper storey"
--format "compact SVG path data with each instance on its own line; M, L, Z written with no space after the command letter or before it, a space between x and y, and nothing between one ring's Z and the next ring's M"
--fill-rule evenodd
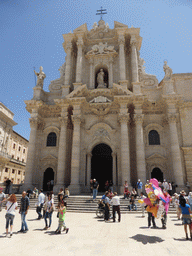
M137 60L137 48L135 38L131 38L131 71L132 71L132 82L139 81L138 75L138 60Z

